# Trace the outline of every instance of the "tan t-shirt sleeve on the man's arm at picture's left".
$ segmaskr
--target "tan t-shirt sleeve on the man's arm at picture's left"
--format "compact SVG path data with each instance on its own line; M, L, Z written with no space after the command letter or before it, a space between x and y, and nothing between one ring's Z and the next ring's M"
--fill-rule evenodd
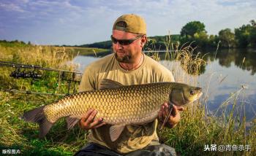
M88 66L83 71L83 76L79 85L79 92L86 90L96 90L95 80L94 80L94 70L91 69L91 66Z

